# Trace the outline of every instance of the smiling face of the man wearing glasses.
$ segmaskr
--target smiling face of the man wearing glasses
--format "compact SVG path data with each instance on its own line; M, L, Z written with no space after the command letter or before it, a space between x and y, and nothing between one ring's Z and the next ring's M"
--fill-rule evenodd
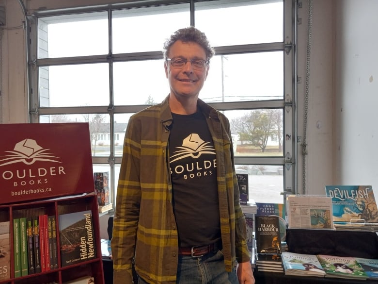
M176 41L170 48L168 57L182 59L201 59L206 61L205 50L195 42ZM171 96L180 98L198 97L206 77L209 66L193 68L190 61L183 67L173 67L170 61L164 64L165 74L169 80Z

